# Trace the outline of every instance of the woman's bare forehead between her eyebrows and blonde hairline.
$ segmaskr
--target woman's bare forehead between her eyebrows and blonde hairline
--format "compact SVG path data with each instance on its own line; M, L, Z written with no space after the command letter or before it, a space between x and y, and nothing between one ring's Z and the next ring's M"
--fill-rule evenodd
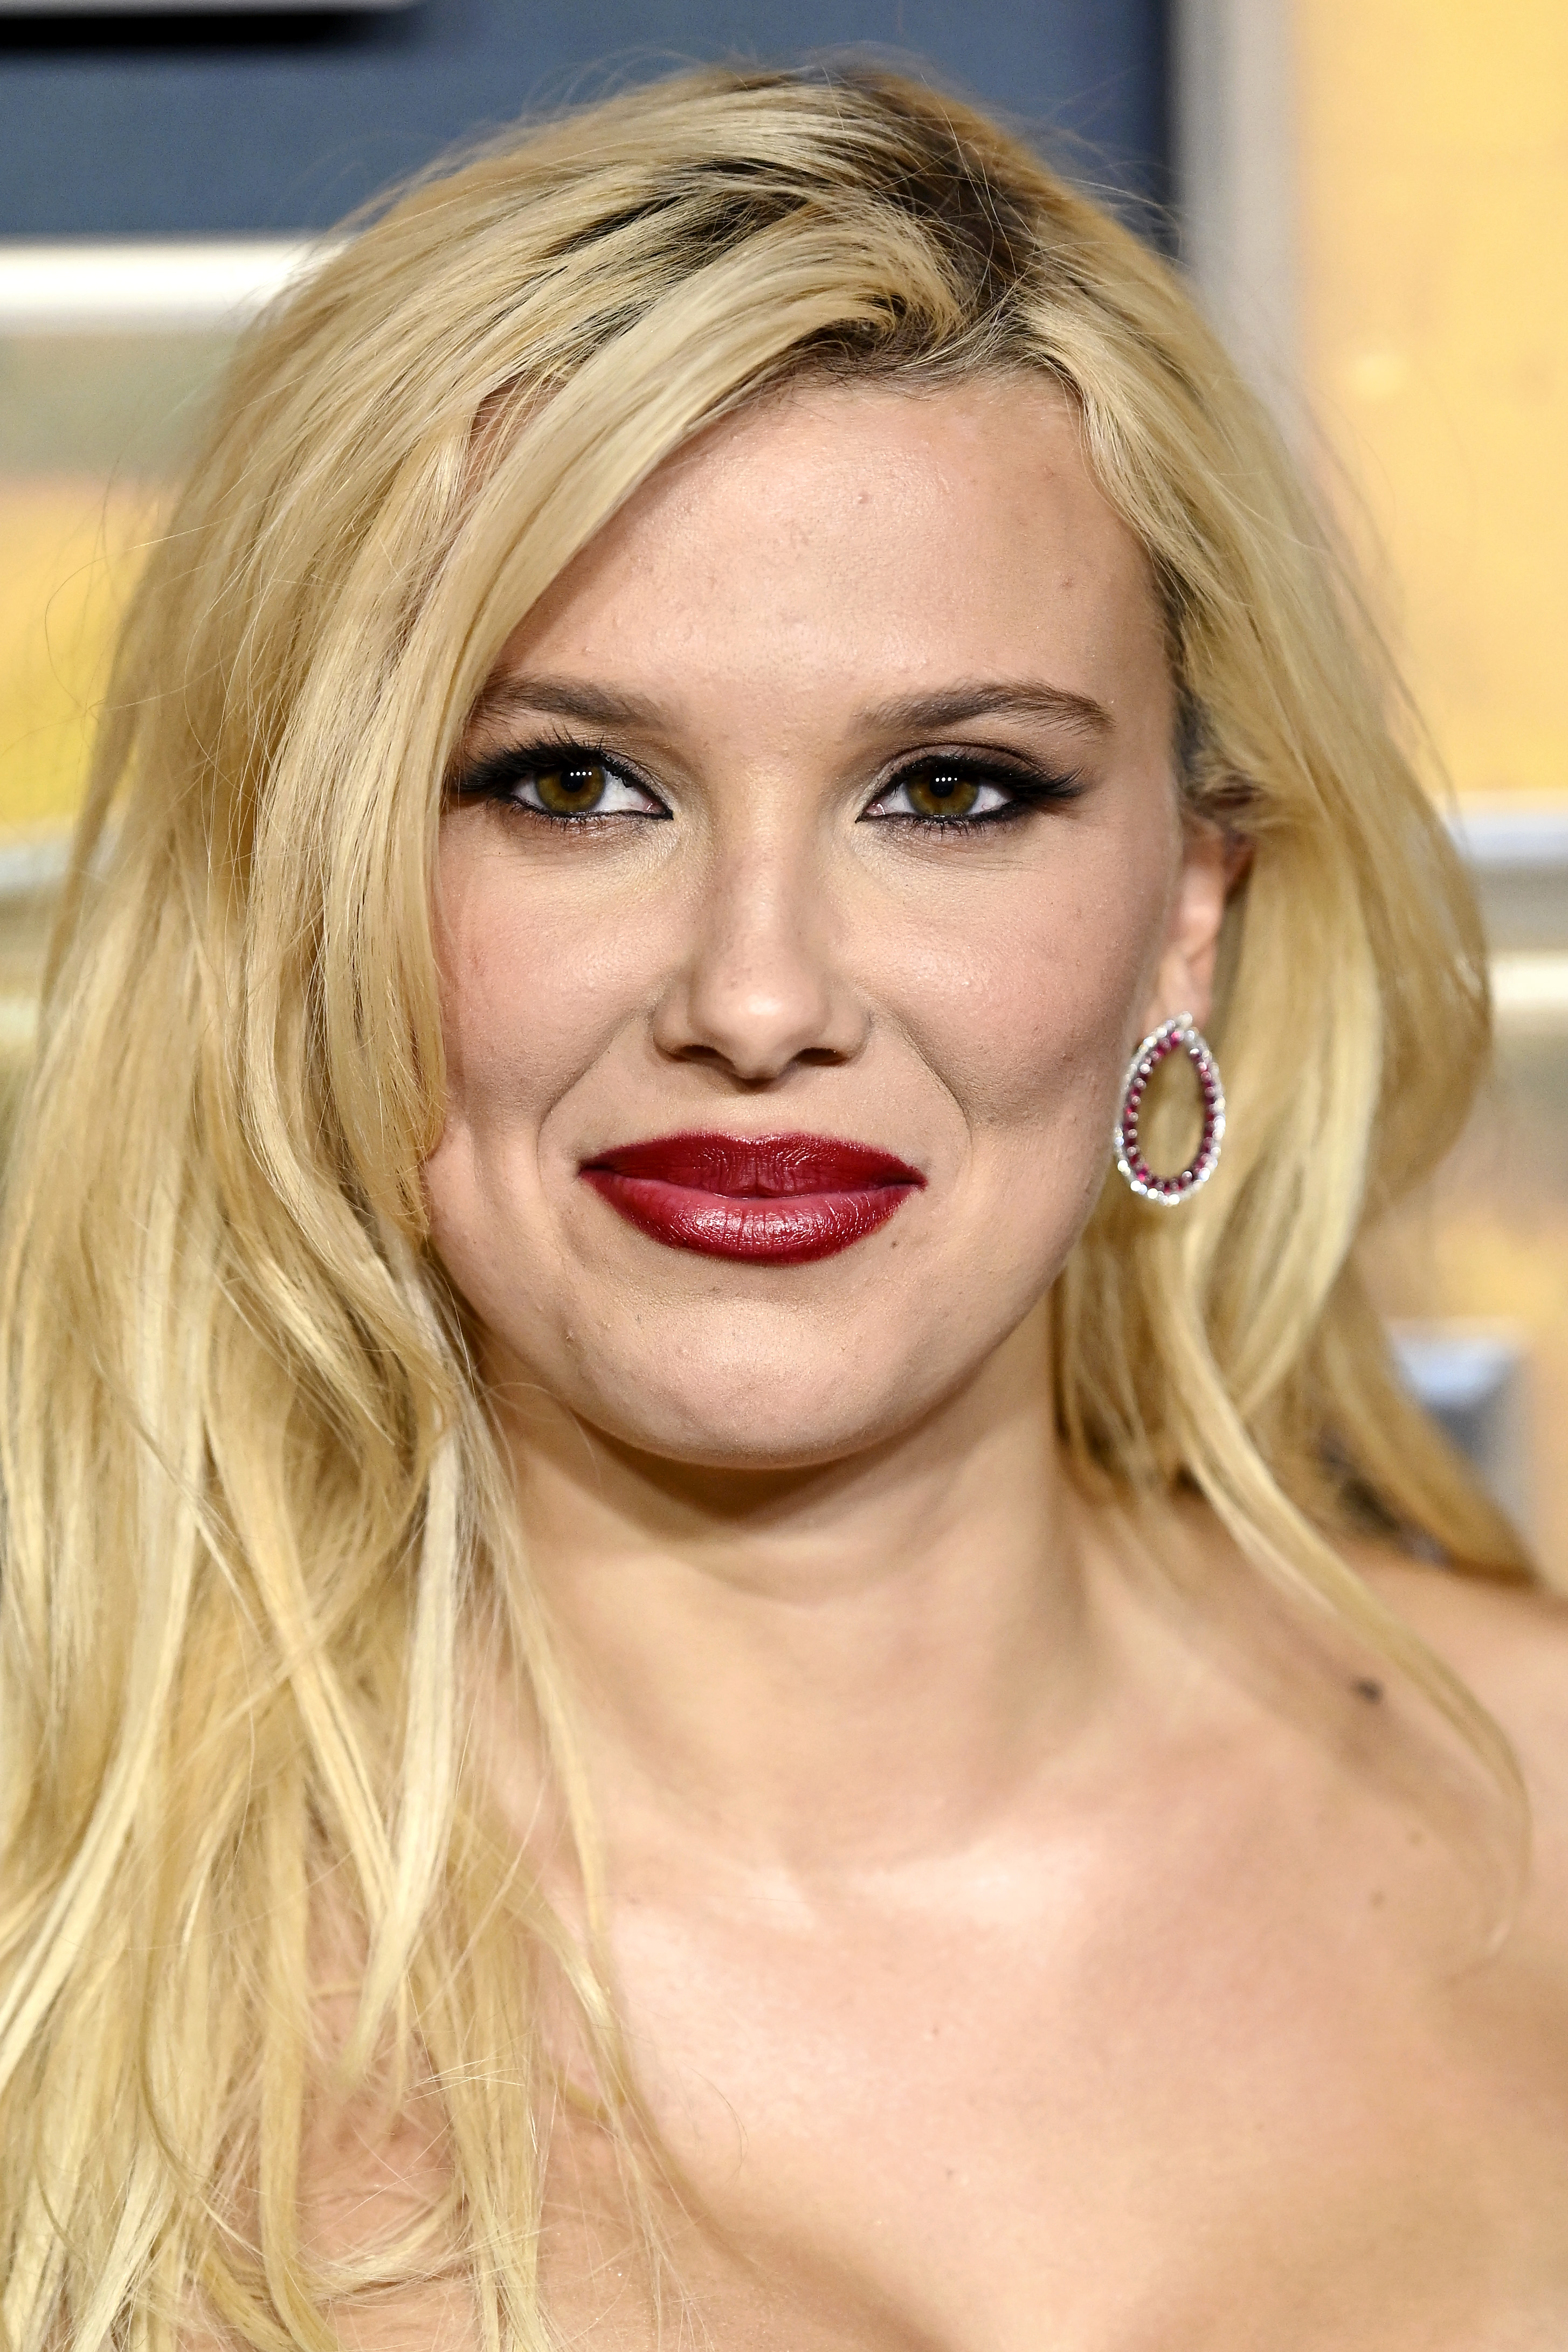
M1044 379L804 386L708 428L567 567L501 668L766 673L830 694L1044 668L1164 680L1150 564Z

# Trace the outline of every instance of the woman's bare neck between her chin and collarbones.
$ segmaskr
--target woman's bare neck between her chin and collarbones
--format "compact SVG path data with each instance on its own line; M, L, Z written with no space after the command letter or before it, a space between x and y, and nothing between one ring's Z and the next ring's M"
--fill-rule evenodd
M851 1461L651 1461L550 1404L508 1439L611 1849L689 1837L790 1870L945 1851L1084 1715L1044 1310Z

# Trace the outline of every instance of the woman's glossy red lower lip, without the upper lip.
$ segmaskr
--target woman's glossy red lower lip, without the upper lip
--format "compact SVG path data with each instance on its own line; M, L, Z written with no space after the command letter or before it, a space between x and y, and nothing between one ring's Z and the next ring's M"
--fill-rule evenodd
M689 1249L701 1258L738 1258L748 1265L809 1265L835 1258L889 1218L917 1192L919 1178L832 1185L820 1192L708 1192L670 1183L668 1176L628 1176L618 1169L583 1169L583 1181L628 1225L637 1225L665 1249Z

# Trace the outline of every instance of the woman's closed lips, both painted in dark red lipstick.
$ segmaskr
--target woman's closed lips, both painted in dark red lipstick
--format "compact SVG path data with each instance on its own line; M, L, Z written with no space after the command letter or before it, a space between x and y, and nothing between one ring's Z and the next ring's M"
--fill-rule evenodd
M665 1249L750 1265L832 1258L926 1178L839 1136L651 1136L583 1164L599 1200Z

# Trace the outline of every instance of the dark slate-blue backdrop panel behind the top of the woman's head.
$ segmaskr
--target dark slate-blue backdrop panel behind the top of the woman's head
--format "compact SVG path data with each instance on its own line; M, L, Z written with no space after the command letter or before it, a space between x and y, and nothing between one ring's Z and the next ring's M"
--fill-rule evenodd
M842 42L922 59L1079 179L1168 195L1164 0L421 0L0 16L0 238L324 228L529 106L682 59Z

